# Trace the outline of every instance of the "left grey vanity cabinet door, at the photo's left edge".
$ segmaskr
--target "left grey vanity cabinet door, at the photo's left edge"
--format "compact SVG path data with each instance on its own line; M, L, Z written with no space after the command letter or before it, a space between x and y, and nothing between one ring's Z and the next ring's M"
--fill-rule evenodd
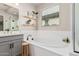
M9 42L0 43L0 56L10 56L11 48Z

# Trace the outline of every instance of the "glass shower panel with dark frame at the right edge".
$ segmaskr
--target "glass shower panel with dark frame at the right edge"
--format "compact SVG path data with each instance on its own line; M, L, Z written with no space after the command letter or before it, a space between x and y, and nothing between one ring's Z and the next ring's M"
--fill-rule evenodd
M79 52L79 3L75 4L75 40L74 51Z

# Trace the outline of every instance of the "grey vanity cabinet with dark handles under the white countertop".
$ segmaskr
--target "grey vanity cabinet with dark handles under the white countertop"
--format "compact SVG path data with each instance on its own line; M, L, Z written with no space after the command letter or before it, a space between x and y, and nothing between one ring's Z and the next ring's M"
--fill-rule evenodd
M11 38L11 37L10 37ZM3 38L4 40L5 38ZM7 39L7 37L6 37ZM21 52L22 39L17 36L12 38L14 40L8 40L0 43L0 56L17 56Z

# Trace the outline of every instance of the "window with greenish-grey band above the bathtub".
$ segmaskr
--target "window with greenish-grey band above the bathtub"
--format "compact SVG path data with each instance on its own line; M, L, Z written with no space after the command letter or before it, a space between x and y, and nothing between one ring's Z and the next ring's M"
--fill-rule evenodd
M59 20L59 5L43 10L42 26L59 25Z

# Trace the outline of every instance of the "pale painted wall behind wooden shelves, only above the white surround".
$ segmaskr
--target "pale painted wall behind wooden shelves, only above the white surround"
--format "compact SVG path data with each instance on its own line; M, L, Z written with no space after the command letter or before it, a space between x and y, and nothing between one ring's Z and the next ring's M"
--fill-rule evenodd
M35 10L35 8L31 5L31 4L26 4L26 3L20 3L19 4L19 20L20 20L20 24L22 24L24 22L23 16L27 16L27 12L32 12L33 10ZM20 28L21 30L34 30L35 27L32 26L21 26Z

